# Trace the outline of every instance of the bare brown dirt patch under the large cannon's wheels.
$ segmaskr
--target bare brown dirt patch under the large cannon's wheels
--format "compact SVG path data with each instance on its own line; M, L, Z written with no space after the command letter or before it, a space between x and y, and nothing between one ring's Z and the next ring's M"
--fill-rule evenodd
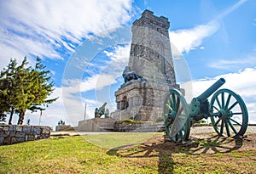
M188 142L173 143L168 136L154 136L141 148L154 150L169 150L177 152L178 149L187 149L191 154L228 153L232 150L256 150L256 133L247 134L245 138L219 137L216 133L194 133Z

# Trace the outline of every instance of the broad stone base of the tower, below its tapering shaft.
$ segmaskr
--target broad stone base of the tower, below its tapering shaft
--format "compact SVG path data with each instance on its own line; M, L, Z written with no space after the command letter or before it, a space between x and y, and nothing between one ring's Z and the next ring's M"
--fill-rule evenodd
M128 81L115 93L119 107L111 116L119 121L155 121L162 116L163 102L169 88L153 82ZM127 107L120 107L124 103L127 103Z

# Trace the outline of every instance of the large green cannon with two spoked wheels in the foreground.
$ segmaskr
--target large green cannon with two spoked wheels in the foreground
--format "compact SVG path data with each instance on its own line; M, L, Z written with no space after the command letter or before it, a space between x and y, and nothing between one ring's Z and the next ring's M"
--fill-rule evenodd
M243 137L248 124L246 104L230 89L218 90L224 83L224 78L220 78L200 96L193 98L190 104L187 104L183 94L177 89L170 89L166 93L163 107L164 125L166 134L172 141L188 140L190 127L195 122L207 118L211 119L212 126L219 136Z

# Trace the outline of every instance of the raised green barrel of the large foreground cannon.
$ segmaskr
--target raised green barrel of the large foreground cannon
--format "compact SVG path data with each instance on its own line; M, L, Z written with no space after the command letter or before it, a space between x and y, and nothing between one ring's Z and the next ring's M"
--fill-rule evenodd
M204 93L202 93L197 98L201 101L201 103L204 103L207 98L209 98L212 93L218 90L219 87L221 87L225 83L224 78L220 78L218 81L216 81L211 87L209 87Z

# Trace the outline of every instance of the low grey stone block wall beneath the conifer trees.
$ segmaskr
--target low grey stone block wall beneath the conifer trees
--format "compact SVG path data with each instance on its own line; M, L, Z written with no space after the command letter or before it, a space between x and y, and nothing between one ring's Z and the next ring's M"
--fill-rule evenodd
M0 125L0 145L49 138L49 126Z

